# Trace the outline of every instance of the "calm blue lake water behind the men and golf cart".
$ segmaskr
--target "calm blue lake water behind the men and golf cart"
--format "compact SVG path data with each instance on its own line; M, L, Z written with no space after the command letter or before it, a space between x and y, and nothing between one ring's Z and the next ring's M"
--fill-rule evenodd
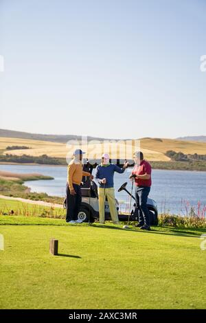
M10 172L38 172L42 175L54 177L53 180L27 181L25 185L32 192L46 192L58 197L65 196L67 181L66 166L33 166L33 165L0 165L0 170ZM128 181L128 190L131 183L128 180L131 169L124 174L115 173L116 197L119 201L128 202L126 192L117 192L118 188ZM175 214L186 214L185 204L190 202L190 207L197 207L201 201L201 207L206 205L206 172L192 172L181 170L152 170L152 188L150 198L155 199L159 212L170 211Z

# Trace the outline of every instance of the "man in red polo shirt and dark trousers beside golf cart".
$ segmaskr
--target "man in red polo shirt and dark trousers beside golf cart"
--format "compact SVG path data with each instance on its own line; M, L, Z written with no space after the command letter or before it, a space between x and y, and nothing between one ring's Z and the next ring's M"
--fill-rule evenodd
M148 161L144 159L141 151L134 154L135 167L130 175L130 179L135 179L135 198L137 208L139 208L139 223L136 225L141 230L150 230L150 215L147 207L148 194L152 185L152 168Z

